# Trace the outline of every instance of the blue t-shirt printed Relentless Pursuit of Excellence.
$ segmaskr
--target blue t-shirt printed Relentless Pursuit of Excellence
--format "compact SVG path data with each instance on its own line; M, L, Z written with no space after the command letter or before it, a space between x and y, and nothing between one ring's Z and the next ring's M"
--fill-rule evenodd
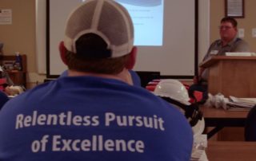
M185 116L146 89L101 77L60 77L0 112L0 160L189 160Z

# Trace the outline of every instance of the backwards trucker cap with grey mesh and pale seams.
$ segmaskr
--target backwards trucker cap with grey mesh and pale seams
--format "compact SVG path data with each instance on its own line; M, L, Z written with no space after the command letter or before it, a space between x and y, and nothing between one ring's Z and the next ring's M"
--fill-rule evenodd
M85 57L98 57L97 54L102 53L94 52L91 47L85 47L91 52L83 52L76 45L79 37L90 33L106 42L109 52L100 57L122 57L130 53L134 45L134 26L130 15L118 2L111 0L86 0L70 14L64 37L66 49L79 55L85 54Z

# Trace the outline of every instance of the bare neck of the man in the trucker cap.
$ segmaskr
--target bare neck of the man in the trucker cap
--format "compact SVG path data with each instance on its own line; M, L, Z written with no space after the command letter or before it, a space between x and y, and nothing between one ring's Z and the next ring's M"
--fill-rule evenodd
M101 73L86 73L86 72L78 72L75 70L68 70L69 77L78 77L78 76L91 76L91 77L103 77L103 78L110 78L116 79L119 81L124 81L127 84L133 84L132 78L128 69L123 69L121 73L118 74L101 74Z

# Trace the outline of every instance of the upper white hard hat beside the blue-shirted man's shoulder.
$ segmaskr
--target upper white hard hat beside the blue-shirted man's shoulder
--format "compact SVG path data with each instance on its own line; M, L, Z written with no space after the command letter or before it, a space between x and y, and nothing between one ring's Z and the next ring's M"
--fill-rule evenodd
M182 104L190 105L190 97L186 87L177 80L166 79L160 81L154 89L154 94L157 96L167 96Z

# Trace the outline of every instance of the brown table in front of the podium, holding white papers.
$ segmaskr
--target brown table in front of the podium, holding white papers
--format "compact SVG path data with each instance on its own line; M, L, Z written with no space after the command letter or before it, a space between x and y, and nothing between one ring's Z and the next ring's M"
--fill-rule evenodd
M206 127L214 127L207 133L210 139L224 127L244 127L249 111L228 111L223 108L200 107L206 122ZM256 150L255 150L256 151Z

